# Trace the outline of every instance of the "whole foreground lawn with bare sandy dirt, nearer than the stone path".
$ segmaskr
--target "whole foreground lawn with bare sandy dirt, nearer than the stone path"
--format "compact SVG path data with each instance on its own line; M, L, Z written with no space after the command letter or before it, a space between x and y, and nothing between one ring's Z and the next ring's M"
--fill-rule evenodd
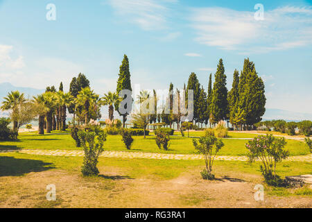
M202 180L199 160L146 160L101 157L100 176L84 178L83 157L0 153L0 207L312 207L312 190L263 184L259 163L216 161L218 180ZM311 174L309 162L282 162L284 176ZM264 202L254 185L265 187ZM47 201L54 184L57 201Z

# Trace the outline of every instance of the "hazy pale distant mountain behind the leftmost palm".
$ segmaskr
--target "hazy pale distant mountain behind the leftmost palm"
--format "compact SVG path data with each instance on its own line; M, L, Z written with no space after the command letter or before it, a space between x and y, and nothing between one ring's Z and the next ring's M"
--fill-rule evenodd
M3 97L8 95L8 92L19 90L19 92L23 92L25 97L31 98L37 94L41 94L45 91L45 89L34 89L30 87L16 87L11 83L0 83L0 101L3 101Z

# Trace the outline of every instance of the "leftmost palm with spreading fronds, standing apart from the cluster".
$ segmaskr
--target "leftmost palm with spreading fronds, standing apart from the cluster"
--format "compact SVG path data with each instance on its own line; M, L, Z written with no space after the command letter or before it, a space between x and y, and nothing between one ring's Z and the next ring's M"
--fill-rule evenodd
M15 117L16 112L18 112L18 105L26 101L24 93L19 91L11 91L8 93L8 96L3 98L1 110L12 110L12 116ZM13 119L13 131L17 129L17 121Z

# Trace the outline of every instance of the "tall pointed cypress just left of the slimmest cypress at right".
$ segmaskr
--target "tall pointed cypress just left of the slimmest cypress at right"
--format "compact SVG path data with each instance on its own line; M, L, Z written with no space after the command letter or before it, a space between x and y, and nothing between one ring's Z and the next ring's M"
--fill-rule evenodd
M227 76L223 66L223 60L219 60L218 68L215 74L214 89L212 90L211 114L214 122L227 119Z

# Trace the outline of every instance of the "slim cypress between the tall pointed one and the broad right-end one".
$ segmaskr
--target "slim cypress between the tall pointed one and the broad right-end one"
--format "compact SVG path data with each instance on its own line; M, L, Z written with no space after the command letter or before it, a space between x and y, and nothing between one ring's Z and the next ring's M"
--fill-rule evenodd
M235 69L233 74L232 89L227 97L229 103L229 122L234 124L237 103L239 101L239 71Z

